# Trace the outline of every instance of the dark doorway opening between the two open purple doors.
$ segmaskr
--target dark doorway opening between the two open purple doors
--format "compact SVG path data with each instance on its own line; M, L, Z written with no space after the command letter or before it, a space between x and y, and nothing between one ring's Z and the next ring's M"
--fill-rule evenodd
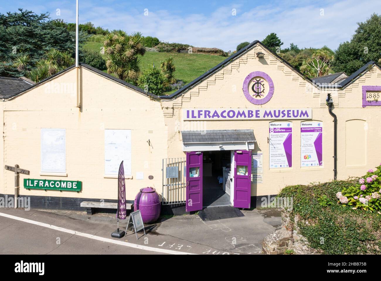
M203 152L203 208L231 206L231 150Z

